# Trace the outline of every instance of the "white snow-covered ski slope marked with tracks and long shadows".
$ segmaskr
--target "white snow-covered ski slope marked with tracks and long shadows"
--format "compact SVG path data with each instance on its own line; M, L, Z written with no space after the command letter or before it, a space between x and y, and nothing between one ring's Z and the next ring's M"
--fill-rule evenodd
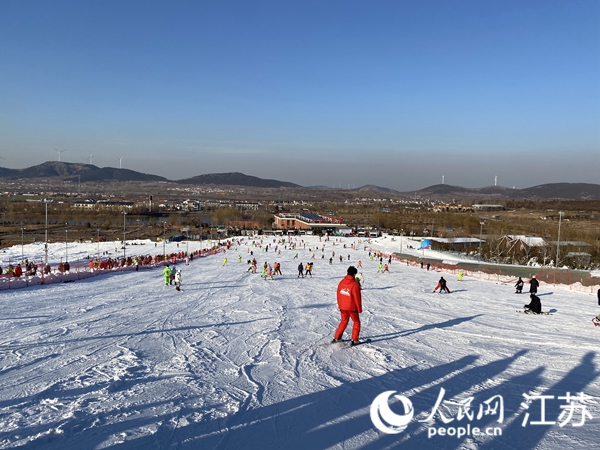
M600 327L591 318L600 308L594 295L542 284L543 309L554 314L530 316L516 312L528 296L509 283L458 282L395 261L391 273L378 273L378 261L364 248L398 251L390 238L334 245L306 236L281 255L249 242L226 253L226 266L223 255L179 264L182 292L164 286L160 269L1 292L0 448L596 445ZM266 244L274 247L273 238L263 238ZM118 244L101 246L120 254ZM51 246L52 261L64 256L64 247ZM70 261L98 250L96 244L68 247ZM185 247L169 243L167 252ZM283 276L265 281L248 273L249 250L259 265L280 261ZM298 262L313 252L313 278L297 278ZM162 244L127 247L128 255L135 253L162 253ZM25 246L24 254L39 260L43 248ZM20 259L21 246L1 256L5 267L8 258ZM361 338L372 342L328 344L339 321L337 284L359 260ZM431 292L440 275L451 294ZM371 419L372 402L386 391L414 407L398 434L379 431ZM397 401L391 409L394 417L408 414ZM391 423L385 411L381 416ZM475 436L475 427L496 436ZM470 436L457 436L467 431ZM451 436L439 435L444 432Z

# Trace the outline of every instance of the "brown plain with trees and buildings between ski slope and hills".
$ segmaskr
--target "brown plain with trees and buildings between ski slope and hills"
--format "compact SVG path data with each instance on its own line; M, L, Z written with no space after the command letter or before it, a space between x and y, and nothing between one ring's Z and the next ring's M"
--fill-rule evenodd
M238 183L261 183L243 174L224 175ZM458 190L443 185L407 195L377 187L277 186L275 180L257 187L80 182L69 176L0 178L2 247L65 238L156 241L257 233L387 233L408 236L417 247L426 240L432 248L490 263L554 267L558 257L560 266L600 266L600 201L593 198L521 199L496 191L469 198L474 191L464 189L462 196L450 197Z

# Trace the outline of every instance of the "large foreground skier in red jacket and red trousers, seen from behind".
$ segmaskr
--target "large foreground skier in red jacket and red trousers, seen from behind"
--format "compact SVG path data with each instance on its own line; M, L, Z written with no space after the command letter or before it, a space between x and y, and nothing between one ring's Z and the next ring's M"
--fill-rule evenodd
M355 277L358 273L356 267L348 267L347 275L344 277L337 289L338 308L342 315L342 320L338 326L332 342L340 342L342 335L348 326L348 321L352 319L352 342L351 345L359 344L358 336L360 334L360 317L362 312L362 297L360 295L360 284Z

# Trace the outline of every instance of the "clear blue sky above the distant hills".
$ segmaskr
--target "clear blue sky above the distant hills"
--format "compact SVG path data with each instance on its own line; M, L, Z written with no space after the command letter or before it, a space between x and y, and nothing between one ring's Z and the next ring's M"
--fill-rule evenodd
M596 0L0 1L0 163L600 183L599 24Z

